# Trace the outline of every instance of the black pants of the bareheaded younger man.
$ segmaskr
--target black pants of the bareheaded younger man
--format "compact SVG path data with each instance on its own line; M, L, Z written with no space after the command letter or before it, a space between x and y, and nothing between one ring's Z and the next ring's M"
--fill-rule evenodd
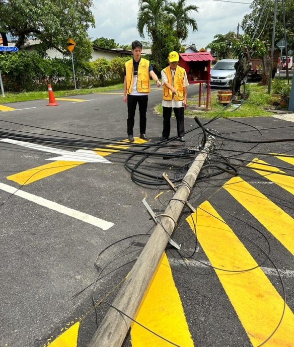
M133 135L136 106L139 104L140 134L146 132L146 112L148 106L148 95L128 95L127 96L127 134Z

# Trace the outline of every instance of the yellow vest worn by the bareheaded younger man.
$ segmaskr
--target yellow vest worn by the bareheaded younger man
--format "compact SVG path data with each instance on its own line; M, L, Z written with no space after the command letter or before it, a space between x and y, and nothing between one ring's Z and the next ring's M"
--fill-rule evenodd
M150 78L149 78L149 60L141 58L138 66L137 74L137 92L149 93L150 92ZM126 73L126 93L130 94L133 85L133 59L125 63Z

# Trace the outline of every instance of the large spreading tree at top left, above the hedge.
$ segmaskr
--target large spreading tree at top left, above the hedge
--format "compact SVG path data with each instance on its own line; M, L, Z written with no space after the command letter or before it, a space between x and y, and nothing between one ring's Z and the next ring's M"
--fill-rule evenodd
M10 35L18 48L31 37L39 39L43 54L48 48L66 54L66 41L71 37L77 43L75 55L88 59L87 30L95 24L92 5L92 0L1 0L0 34L4 43Z

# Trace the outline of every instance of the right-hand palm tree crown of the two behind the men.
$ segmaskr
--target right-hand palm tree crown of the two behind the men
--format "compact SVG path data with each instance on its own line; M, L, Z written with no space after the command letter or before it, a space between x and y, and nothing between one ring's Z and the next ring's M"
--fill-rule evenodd
M198 30L196 20L190 17L192 11L198 12L198 7L196 5L185 5L186 0L178 0L177 3L169 3L165 8L165 11L170 16L172 27L176 30L178 38L182 41L187 40L189 27L192 28L193 32Z

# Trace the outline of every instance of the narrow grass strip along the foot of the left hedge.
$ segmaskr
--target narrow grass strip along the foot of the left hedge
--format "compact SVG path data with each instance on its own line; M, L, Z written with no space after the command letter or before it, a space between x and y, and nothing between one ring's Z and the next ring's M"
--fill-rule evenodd
M91 93L101 93L109 92L115 90L123 89L123 83L114 84L106 87L99 88L88 88L88 89L77 89L77 90L65 90L65 91L56 91L54 92L55 98L68 97L73 95L81 94L91 94ZM5 98L0 96L0 104L5 103L14 103L16 101L28 101L28 100L37 100L37 99L46 99L48 98L48 92L23 92L23 93L5 93Z

